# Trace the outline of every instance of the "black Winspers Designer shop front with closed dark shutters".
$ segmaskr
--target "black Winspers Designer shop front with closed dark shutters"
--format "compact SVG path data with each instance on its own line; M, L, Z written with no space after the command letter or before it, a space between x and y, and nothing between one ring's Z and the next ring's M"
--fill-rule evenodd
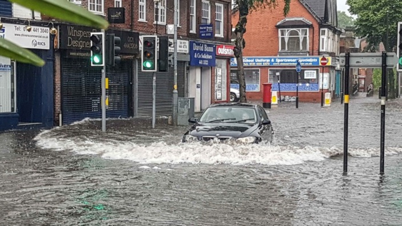
M60 105L61 124L70 124L86 117L100 118L101 70L90 66L90 33L95 29L77 25L60 26ZM133 107L133 69L135 55L139 53L139 34L131 31L108 30L121 38L121 62L107 66L106 117L130 117ZM60 117L59 115L59 117Z

